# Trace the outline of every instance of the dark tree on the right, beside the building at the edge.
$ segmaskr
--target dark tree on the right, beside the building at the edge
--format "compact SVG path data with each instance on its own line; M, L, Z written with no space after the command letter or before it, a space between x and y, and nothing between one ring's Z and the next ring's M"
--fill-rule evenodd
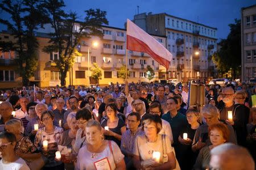
M237 78L241 71L241 20L235 19L234 24L229 24L230 32L226 39L218 45L221 49L211 58L216 64L218 72L226 74L232 71L232 78Z

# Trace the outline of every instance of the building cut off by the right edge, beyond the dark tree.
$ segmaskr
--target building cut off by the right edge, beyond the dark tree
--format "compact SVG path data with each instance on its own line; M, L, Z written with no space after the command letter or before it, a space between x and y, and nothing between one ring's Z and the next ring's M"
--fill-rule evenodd
M256 78L256 5L241 9L242 81Z

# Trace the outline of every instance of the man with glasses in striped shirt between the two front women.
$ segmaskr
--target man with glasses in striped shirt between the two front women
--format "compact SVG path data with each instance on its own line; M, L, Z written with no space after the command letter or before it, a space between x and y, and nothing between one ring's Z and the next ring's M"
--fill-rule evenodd
M132 162L134 141L137 135L144 134L144 131L139 128L140 120L141 116L138 112L131 112L127 117L129 129L122 134L121 151L125 155L126 169L134 169Z

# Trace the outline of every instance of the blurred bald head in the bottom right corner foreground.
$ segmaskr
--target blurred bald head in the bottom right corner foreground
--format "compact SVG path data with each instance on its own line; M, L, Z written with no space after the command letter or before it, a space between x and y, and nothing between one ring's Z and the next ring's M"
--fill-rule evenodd
M210 167L221 170L254 170L255 164L246 148L225 143L211 151Z

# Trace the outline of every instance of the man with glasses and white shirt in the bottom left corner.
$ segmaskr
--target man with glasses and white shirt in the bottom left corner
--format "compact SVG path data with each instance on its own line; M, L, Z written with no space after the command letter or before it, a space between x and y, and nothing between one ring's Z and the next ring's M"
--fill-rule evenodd
M0 133L0 152L2 157L0 169L30 170L26 162L15 154L15 146L16 138L14 134L7 133L6 131Z

